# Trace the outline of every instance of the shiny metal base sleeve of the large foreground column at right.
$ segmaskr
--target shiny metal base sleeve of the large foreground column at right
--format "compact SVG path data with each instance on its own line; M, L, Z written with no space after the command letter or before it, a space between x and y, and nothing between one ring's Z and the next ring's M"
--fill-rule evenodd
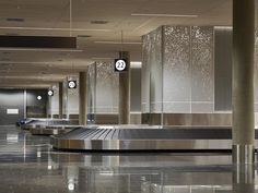
M254 145L233 145L232 146L233 164L254 164L255 162L255 147Z

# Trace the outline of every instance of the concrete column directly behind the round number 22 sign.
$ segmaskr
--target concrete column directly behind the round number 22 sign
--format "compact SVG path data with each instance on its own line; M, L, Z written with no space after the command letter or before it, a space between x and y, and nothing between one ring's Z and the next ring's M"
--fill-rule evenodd
M130 55L120 51L119 58L127 59L128 71L119 73L119 124L130 123Z

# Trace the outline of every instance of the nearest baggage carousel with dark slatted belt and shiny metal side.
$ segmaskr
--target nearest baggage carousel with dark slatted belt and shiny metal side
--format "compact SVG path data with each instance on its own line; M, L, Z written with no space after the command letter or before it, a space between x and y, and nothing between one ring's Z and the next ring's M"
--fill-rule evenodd
M119 128L119 126L114 126ZM173 126L144 129L78 128L51 136L56 149L66 150L230 150L230 126ZM256 130L258 138L258 130Z

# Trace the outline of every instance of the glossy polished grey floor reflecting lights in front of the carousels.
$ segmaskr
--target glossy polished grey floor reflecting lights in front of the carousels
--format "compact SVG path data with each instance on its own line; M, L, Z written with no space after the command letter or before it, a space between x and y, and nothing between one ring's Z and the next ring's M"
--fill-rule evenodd
M0 126L3 193L254 193L256 167L226 154L86 154L51 149L49 137Z

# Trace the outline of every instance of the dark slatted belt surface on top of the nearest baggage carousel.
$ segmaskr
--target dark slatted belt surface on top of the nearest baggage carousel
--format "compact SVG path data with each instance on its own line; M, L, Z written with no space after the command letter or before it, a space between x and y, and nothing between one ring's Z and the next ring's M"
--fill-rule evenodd
M227 129L84 129L79 128L66 135L66 140L228 140Z

